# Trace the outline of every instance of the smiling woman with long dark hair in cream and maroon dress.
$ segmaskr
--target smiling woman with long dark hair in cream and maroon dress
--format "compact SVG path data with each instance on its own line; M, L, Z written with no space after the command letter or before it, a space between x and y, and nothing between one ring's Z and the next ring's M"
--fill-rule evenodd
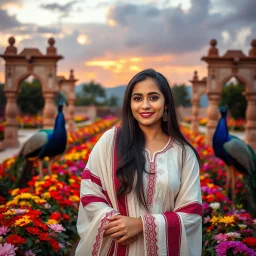
M120 128L93 148L81 181L76 256L199 256L199 156L153 69L128 84Z

